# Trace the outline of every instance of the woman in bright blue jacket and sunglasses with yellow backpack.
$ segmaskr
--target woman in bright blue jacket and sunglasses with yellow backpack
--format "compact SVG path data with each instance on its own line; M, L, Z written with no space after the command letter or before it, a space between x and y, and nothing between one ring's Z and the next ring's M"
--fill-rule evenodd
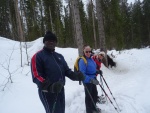
M90 46L83 47L83 56L87 60L87 64L84 63L83 59L79 60L79 70L84 74L85 80L83 80L84 90L85 90L85 105L86 113L98 113L100 112L96 108L97 102L97 90L96 85L99 84L96 79L96 63L91 58L91 48Z

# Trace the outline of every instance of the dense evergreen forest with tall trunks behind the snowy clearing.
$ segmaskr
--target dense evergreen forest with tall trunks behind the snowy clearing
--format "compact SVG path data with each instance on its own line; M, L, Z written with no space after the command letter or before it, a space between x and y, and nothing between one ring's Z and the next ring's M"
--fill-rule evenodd
M28 42L50 30L59 47L78 47L79 32L82 43L95 49L102 44L116 50L150 45L150 0L87 1L0 0L0 36Z

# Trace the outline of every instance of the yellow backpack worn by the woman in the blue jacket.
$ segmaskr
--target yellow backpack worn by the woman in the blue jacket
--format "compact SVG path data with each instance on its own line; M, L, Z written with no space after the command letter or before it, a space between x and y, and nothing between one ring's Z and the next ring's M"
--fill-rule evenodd
M87 60L84 56L82 57L78 57L75 61L75 64L74 64L74 72L78 72L79 71L79 61L80 59L83 59L84 63L86 64L87 66ZM79 85L81 85L81 81L79 81Z

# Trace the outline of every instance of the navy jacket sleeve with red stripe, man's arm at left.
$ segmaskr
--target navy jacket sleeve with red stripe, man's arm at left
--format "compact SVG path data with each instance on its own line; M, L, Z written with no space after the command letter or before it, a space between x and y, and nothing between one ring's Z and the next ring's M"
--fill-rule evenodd
M31 59L31 73L32 73L32 79L33 82L40 87L42 83L44 82L44 69L42 64L42 59L40 56L36 53L32 59Z

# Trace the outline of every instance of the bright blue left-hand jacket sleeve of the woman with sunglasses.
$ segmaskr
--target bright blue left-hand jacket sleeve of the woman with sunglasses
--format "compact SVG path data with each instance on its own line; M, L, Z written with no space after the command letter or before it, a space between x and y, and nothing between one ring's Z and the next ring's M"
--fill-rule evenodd
M84 60L81 59L79 61L79 70L84 74L85 80L84 82L90 82L91 78L86 74L86 64L84 63Z

